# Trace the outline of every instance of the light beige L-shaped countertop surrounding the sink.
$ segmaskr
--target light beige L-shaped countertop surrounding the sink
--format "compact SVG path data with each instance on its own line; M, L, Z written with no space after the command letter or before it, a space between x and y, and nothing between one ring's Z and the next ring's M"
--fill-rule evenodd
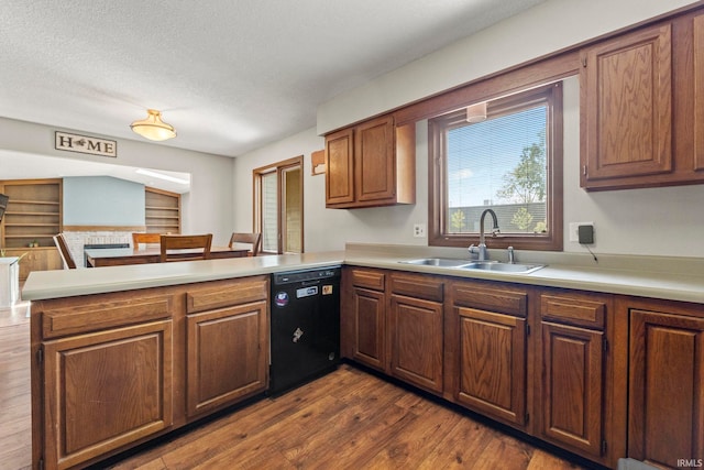
M517 251L517 262L547 264L529 274L399 263L429 256L469 261L466 249L349 243L345 251L336 252L33 272L22 298L69 297L349 264L704 304L704 259L597 253L597 263L590 254ZM490 250L490 258L506 261L506 253Z

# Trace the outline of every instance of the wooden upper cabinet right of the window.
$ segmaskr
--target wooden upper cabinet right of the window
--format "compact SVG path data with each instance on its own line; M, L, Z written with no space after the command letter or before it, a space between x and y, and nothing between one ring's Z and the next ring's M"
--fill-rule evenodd
M581 52L581 177L590 190L704 183L704 15Z

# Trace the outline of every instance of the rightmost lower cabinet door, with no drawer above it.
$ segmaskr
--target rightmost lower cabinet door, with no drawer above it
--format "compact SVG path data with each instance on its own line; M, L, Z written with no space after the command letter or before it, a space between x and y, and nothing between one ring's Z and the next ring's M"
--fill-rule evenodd
M704 458L704 318L630 311L628 456Z

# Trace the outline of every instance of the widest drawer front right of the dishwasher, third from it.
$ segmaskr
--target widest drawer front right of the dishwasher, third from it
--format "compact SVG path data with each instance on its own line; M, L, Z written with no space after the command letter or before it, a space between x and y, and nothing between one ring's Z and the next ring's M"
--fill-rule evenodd
M455 284L452 298L457 306L481 308L490 311L525 317L528 293L504 288L491 288L475 284Z

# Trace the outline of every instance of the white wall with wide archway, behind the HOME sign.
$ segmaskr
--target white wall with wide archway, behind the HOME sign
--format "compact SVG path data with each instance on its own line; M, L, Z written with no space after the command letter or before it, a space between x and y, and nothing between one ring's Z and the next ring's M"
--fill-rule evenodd
M54 149L54 131L57 130L81 133L79 130L0 118L0 151L190 173L191 190L182 196L182 231L211 232L213 244L227 244L230 240L233 231L230 201L233 198L231 175L234 164L231 157L124 139L118 140L117 159L62 152ZM0 179L3 179L0 152Z

